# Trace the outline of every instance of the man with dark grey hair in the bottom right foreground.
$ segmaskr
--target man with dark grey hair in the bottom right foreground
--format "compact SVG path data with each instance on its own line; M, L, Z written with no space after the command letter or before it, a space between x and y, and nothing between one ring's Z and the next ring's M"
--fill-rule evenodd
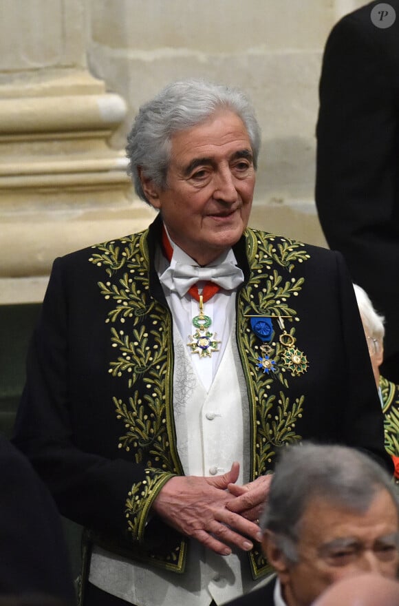
M276 575L228 606L311 606L356 573L396 579L398 494L389 474L358 450L305 442L286 448L261 528Z

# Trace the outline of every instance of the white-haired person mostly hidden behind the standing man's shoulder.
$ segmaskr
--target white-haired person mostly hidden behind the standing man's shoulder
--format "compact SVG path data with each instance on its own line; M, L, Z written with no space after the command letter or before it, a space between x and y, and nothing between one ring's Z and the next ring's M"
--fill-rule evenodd
M395 477L399 479L399 386L388 381L380 374L380 365L384 359L384 316L378 314L365 289L354 284L354 291L360 317L365 329L367 346L373 367L374 379L380 394L384 414L385 449L395 464Z

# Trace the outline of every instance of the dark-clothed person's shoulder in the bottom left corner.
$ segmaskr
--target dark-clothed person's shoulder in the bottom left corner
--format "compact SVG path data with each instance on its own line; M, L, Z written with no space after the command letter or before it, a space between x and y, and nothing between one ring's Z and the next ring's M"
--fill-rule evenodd
M76 603L61 519L47 488L0 434L0 596ZM36 596L36 598L35 598ZM39 603L39 602L38 602Z

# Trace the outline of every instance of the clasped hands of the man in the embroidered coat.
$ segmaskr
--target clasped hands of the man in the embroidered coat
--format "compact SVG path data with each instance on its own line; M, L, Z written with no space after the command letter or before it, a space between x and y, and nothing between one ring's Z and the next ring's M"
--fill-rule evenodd
M230 545L249 551L261 541L259 518L271 475L237 485L239 463L222 476L178 476L166 482L153 511L173 528L221 555Z

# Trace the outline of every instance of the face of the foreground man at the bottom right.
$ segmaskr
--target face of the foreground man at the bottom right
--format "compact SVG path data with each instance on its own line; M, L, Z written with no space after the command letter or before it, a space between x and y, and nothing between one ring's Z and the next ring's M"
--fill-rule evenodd
M265 538L266 554L270 542ZM331 501L312 500L301 520L299 562L274 561L287 606L310 606L338 579L360 572L395 578L398 571L398 513L389 493L376 494L367 512L348 512ZM271 558L275 557L271 555Z

